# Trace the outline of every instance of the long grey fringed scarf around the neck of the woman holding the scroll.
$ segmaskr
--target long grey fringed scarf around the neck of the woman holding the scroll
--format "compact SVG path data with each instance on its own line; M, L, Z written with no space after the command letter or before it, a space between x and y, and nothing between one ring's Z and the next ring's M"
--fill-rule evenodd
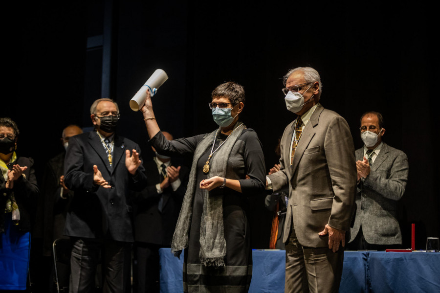
M227 141L211 158L207 178L214 176L225 177L227 158L229 158L235 142L242 135L245 128L244 124L236 123L234 127L234 130L236 130L229 135ZM218 131L220 132L220 129ZM171 243L171 251L175 256L179 256L182 249L188 247L189 230L193 214L193 199L196 184L200 183L197 182L197 172L203 172L202 170L196 170L197 162L212 146L216 132L217 130L205 135L200 143L198 143L194 152L188 186ZM223 196L214 196L206 189L203 189L203 192L203 213L200 221L200 263L204 266L222 267L224 266L224 257L226 256L226 241L223 229Z

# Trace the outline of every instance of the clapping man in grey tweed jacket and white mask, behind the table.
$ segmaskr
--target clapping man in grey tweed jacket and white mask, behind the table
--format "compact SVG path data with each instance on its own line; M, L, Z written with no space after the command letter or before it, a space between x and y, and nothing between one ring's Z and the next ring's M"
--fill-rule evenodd
M360 125L364 146L356 150L357 210L348 249L399 248L397 203L405 192L408 158L382 142L385 128L380 113L364 113Z

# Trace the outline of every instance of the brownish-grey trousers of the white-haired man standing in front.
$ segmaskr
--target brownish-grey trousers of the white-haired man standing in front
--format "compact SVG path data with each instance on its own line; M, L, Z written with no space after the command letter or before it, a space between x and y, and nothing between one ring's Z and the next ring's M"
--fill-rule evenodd
M344 248L306 248L291 230L286 243L285 293L337 293L342 276Z

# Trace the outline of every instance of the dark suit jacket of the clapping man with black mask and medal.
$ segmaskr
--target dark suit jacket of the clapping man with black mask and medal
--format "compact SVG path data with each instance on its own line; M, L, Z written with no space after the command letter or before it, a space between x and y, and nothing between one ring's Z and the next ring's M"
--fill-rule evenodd
M132 242L130 190L147 184L143 166L132 176L125 166L125 151L139 146L122 136L114 137L113 165L110 167L101 139L95 132L71 137L65 159L65 183L73 190L66 218L67 236ZM111 188L93 184L93 165Z

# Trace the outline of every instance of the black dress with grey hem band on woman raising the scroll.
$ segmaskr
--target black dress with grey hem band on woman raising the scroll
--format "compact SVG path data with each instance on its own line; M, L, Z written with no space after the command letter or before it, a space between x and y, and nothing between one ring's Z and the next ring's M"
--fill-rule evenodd
M155 135L151 142L160 154L188 154L194 152L204 135L182 138L161 143ZM217 135L214 150L227 135ZM156 144L157 143L157 144ZM211 153L211 147L198 159L197 184L193 200L193 214L189 233L188 247L184 250L183 282L184 292L247 292L252 277L252 249L250 247L250 228L246 218L246 206L249 197L261 195L264 191L265 167L261 143L256 133L244 129L236 143L243 145L239 154L231 154L228 168L232 166L240 178L242 192L230 188L215 188L211 193L223 195L223 227L226 241L225 266L221 268L205 267L200 264L200 220L203 212L204 191L199 182L207 179L202 172L203 165ZM213 155L214 159L216 154ZM238 159L237 159L238 158ZM251 179L246 180L248 175Z

